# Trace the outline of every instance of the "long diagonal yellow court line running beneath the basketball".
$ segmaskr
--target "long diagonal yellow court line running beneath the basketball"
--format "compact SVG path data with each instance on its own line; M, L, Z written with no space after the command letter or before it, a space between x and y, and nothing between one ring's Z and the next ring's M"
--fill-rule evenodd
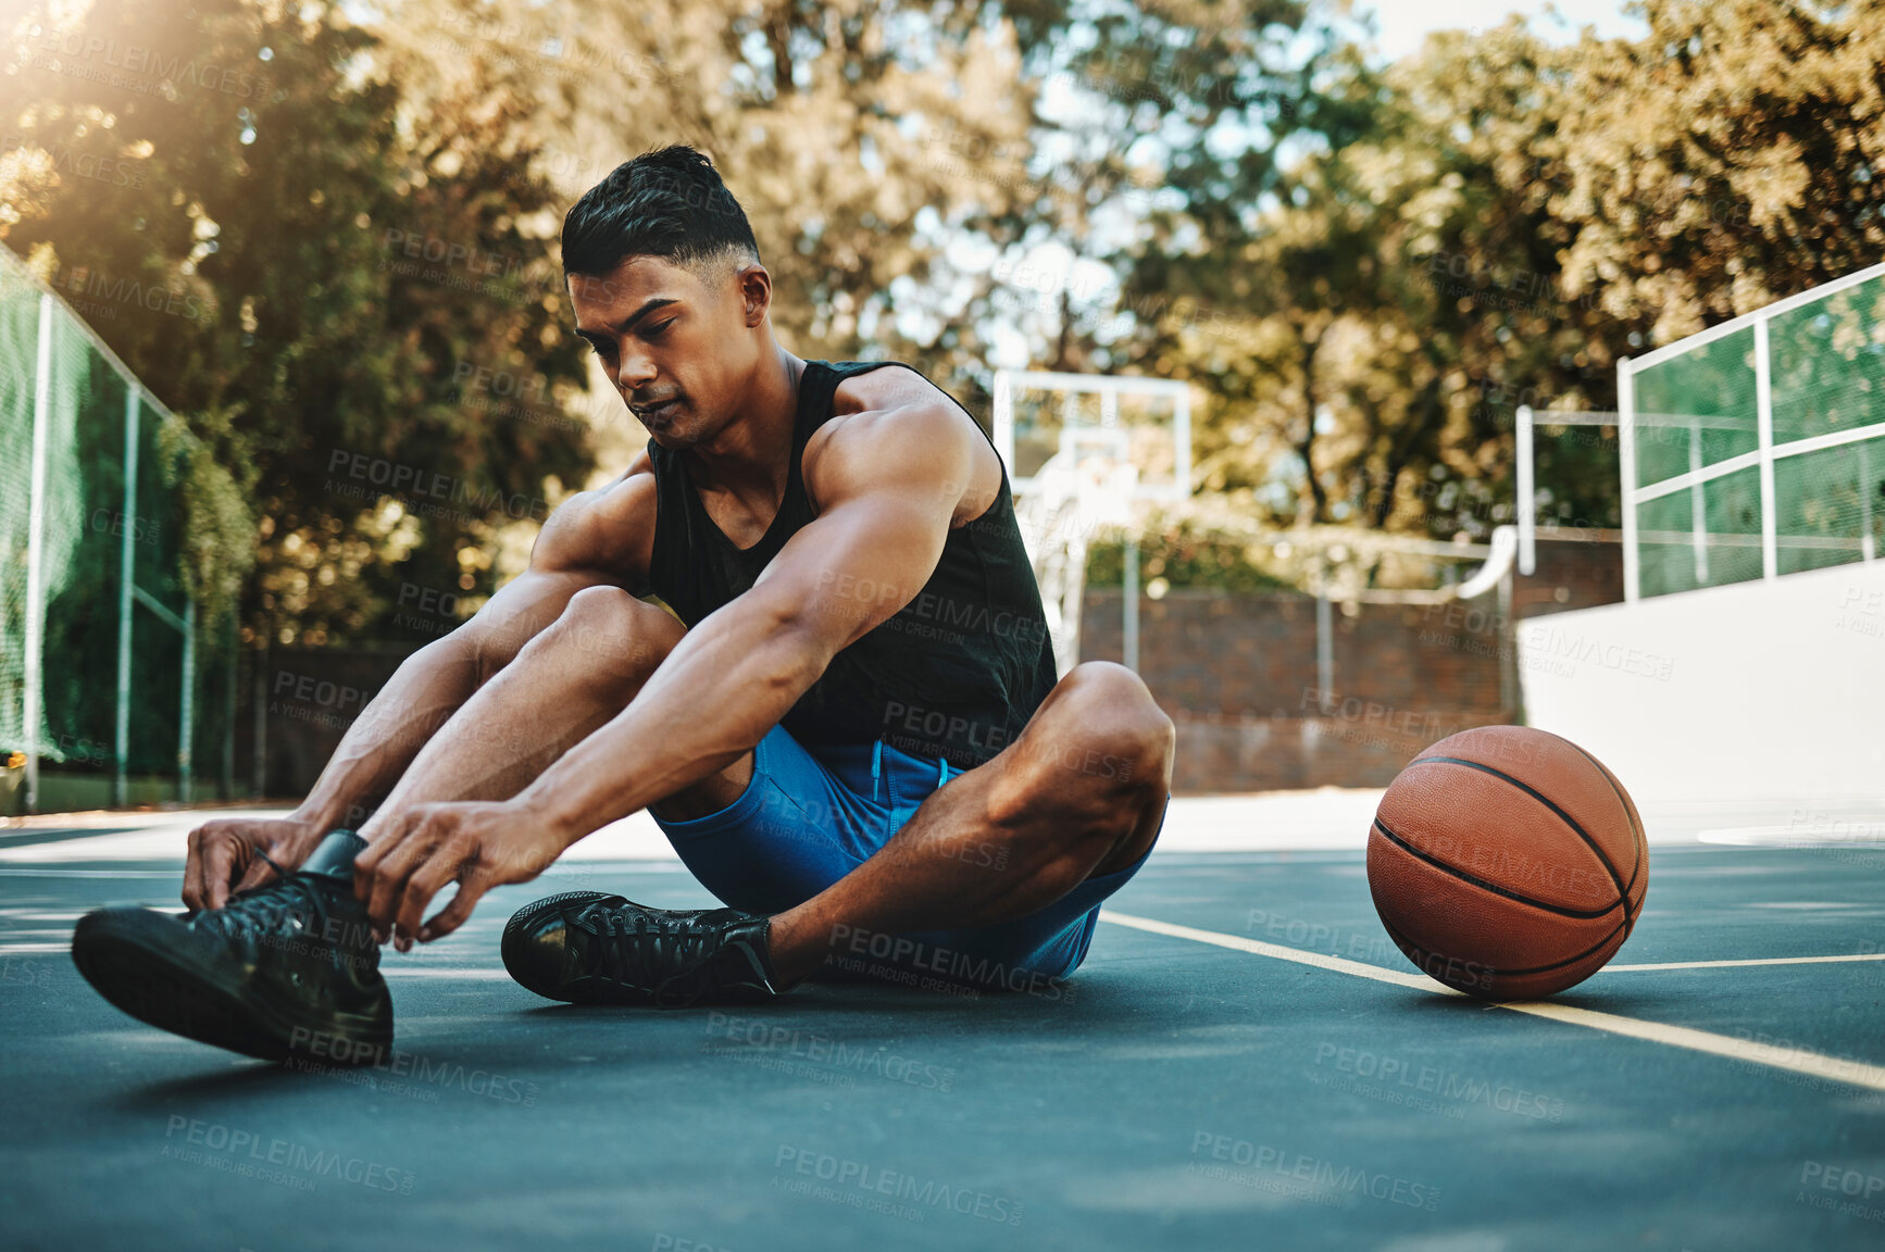
M1112 909L1101 909L1099 920L1114 922L1118 926L1131 926L1133 930L1146 930L1152 931L1154 935L1193 939L1197 943L1210 943L1220 948L1237 948L1238 952L1272 956L1276 960L1295 962L1297 965L1316 965L1318 969L1333 969L1336 973L1353 975L1357 979L1374 979L1376 982L1393 982L1395 986L1410 986L1414 990L1429 992L1434 996L1459 996L1465 999L1463 992L1455 992L1450 986L1440 986L1427 975L1402 973L1399 969L1382 969L1380 965L1365 965L1363 962L1352 962L1342 956L1303 952L1301 948L1286 948L1274 943L1263 943L1259 939L1244 939L1242 935L1223 935L1214 930L1174 926L1171 922L1159 922L1148 916L1114 913ZM1885 1092L1885 1065L1868 1065L1864 1062L1851 1062L1836 1056L1821 1056L1819 1052L1808 1052L1806 1048L1778 1048L1768 1043L1755 1043L1753 1039L1732 1039L1729 1035L1715 1035L1706 1030L1691 1030L1687 1026L1664 1026L1663 1022L1644 1022L1615 1013L1598 1013L1597 1009L1578 1009L1574 1005L1559 1005L1546 999L1519 999L1510 1003L1487 1001L1487 1007L1510 1009L1512 1013L1548 1018L1551 1022L1565 1022L1568 1026L1587 1026L1591 1030L1610 1031L1612 1035L1647 1039L1651 1043L1664 1043L1674 1048L1691 1048L1695 1052L1712 1052L1713 1056L1727 1056L1738 1062L1749 1062L1755 1065L1772 1065L1774 1069L1791 1069L1793 1073L1804 1073L1815 1079L1830 1079L1834 1082L1849 1082L1851 1086L1868 1086L1874 1092Z

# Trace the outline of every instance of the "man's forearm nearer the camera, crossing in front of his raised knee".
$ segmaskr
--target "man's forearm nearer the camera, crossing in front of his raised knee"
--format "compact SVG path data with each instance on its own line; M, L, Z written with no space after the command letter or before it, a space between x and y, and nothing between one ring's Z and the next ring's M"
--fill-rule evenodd
M737 762L828 662L790 618L733 601L690 630L622 713L515 803L575 843Z

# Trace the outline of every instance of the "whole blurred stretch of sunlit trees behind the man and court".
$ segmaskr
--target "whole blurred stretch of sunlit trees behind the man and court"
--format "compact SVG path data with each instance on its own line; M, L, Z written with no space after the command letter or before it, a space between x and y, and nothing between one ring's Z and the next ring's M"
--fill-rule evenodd
M745 204L799 354L976 411L995 364L1193 379L1199 485L1267 528L1483 537L1519 404L1614 409L1617 356L1885 245L1885 0L1647 0L1642 40L1512 19L1393 64L1333 0L11 13L0 238L68 294L188 298L94 326L207 441L232 549L247 502L251 639L411 637L409 586L467 613L620 470L645 436L556 234L671 141ZM1542 456L1614 524L1612 447ZM1287 577L1180 547L1174 583Z

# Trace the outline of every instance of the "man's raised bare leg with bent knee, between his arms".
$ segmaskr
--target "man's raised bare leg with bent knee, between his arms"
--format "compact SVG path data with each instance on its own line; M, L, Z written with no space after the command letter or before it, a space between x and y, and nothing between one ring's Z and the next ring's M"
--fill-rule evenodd
M398 786L366 820L371 843L409 805L509 799L571 747L615 718L686 628L613 586L590 586L437 730ZM752 754L688 788L662 811L686 816L731 803L752 777Z

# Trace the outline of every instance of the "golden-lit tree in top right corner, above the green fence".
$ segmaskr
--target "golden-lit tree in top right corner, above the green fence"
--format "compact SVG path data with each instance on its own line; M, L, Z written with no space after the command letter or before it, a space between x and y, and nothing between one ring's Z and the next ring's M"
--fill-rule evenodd
M1580 45L1570 290L1666 343L1885 251L1885 4L1647 0Z

